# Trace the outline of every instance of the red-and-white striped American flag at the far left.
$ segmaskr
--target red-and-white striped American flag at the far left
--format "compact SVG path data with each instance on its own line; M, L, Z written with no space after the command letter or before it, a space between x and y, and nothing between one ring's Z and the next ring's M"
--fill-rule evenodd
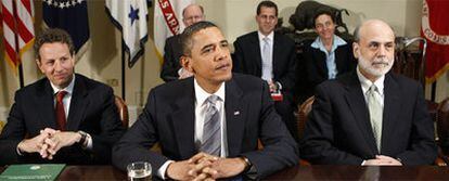
M34 9L33 0L1 0L5 59L15 72L35 40Z

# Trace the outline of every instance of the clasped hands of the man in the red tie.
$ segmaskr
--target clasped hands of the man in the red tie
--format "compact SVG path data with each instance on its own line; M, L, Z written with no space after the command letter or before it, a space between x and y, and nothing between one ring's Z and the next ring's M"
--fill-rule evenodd
M21 153L39 153L42 158L53 159L59 150L80 140L81 135L77 132L46 128L40 130L39 135L20 142L17 148Z

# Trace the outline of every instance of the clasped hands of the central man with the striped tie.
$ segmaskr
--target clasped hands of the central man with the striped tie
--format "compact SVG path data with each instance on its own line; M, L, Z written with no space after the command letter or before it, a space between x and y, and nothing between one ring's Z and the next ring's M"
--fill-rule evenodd
M216 180L230 178L245 170L243 158L221 158L206 153L198 153L188 160L168 165L166 176L175 180Z

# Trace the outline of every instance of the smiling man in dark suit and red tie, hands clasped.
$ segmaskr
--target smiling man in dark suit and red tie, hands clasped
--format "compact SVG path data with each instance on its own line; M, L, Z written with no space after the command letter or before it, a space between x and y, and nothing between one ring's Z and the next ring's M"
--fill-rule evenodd
M0 135L0 165L15 163L107 164L123 132L113 90L74 74L69 35L47 29L36 38L42 78L15 93Z

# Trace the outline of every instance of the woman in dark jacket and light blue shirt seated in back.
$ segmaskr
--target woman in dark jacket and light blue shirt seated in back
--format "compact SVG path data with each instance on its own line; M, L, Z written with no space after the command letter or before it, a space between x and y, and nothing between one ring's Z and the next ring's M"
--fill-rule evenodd
M319 83L352 70L357 64L352 55L352 43L335 35L334 14L328 9L321 9L313 21L318 37L305 46L303 53L299 102L313 95L315 87Z

